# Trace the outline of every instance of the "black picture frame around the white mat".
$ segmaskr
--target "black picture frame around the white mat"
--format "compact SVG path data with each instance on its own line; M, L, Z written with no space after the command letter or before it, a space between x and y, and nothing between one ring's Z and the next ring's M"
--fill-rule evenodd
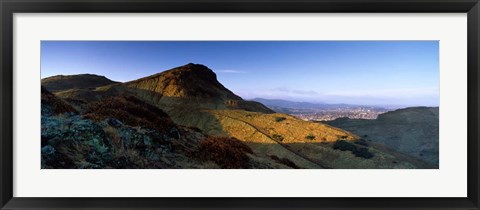
M479 209L478 0L0 0L1 209ZM14 13L467 13L466 198L17 198L13 192Z

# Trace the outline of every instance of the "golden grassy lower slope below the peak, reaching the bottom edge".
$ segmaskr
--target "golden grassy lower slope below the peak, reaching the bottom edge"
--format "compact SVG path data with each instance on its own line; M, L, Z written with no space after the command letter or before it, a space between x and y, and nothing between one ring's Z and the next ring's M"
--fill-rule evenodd
M373 144L369 146L369 151L374 154L371 159L356 157L350 151L334 150L332 145L335 141L354 141L359 137L338 128L303 121L286 114L184 109L170 110L169 114L176 123L198 127L208 135L232 136L244 141L258 157L266 161L271 161L269 157L273 155L287 158L301 168L431 167Z

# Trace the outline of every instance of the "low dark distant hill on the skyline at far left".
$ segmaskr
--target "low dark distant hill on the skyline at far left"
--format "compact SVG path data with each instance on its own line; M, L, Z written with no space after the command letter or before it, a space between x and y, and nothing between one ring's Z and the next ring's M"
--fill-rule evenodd
M42 79L42 86L50 92L59 92L70 89L92 89L100 86L115 84L104 76L95 74L57 75Z

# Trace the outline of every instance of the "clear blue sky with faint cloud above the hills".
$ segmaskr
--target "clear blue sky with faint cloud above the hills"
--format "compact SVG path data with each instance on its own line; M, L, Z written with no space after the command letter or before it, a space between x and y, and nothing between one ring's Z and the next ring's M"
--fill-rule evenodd
M438 106L438 41L42 41L42 78L200 63L244 99Z

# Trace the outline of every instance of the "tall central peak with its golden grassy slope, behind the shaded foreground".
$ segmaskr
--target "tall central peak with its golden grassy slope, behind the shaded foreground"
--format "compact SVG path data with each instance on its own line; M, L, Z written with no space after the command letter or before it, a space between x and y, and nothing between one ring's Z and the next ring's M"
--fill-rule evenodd
M335 150L336 141L355 141L359 137L244 101L203 65L187 64L124 86L137 97L164 109L179 125L199 128L209 136L234 137L244 142L252 148L257 162L264 165L271 165L275 161L272 157L277 157L300 168L431 167L373 145L369 146L375 153L371 159Z

